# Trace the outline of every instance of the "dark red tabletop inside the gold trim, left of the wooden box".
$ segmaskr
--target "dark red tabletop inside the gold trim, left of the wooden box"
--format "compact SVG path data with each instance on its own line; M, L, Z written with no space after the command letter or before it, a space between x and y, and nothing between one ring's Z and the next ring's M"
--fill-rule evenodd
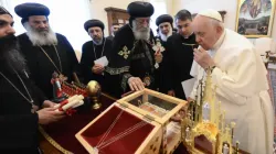
M75 134L95 119L100 112L106 110L114 100L102 96L103 103L99 110L79 110L72 117L66 117L59 122L42 125L46 133L62 147L75 154L88 154L84 146L77 141Z

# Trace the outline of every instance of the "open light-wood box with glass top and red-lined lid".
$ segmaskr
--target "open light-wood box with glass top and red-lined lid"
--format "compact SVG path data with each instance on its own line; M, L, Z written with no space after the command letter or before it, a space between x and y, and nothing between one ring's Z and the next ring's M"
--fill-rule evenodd
M77 134L89 153L172 153L181 143L177 117L185 101L145 89L113 103Z

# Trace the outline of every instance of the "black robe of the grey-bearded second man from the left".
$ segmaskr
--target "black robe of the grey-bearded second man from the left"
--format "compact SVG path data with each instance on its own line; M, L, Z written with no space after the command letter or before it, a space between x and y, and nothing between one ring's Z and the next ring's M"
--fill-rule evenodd
M77 69L78 62L75 52L67 38L57 33L56 37L59 43L55 45L55 47L61 59L62 74L68 77L70 81L73 78L73 72ZM52 99L53 86L51 84L51 78L52 74L57 72L56 68L39 46L32 45L25 33L19 35L18 40L20 50L26 59L31 79L34 80L35 85L45 94L49 99ZM56 67L61 70L59 56L56 55L54 46L44 45L41 47L46 52Z

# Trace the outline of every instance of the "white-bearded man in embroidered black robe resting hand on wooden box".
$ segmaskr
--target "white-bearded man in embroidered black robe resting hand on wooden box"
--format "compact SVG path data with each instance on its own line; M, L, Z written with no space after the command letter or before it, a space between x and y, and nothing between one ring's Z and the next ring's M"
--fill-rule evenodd
M113 82L113 87L117 88L114 91L120 91L121 95L140 90L144 86L156 90L155 64L158 59L152 48L156 42L149 28L153 7L148 2L136 1L127 10L130 14L129 24L120 28L115 35L112 64L107 69L114 80L117 79Z

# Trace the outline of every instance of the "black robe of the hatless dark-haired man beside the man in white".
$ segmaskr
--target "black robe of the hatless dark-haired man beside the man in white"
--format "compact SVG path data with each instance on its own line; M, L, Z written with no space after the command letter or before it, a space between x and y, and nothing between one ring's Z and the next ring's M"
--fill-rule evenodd
M174 90L176 97L185 99L181 82L192 78L190 70L193 62L193 48L198 47L195 35L184 38L174 34L167 42L166 85L167 89Z

